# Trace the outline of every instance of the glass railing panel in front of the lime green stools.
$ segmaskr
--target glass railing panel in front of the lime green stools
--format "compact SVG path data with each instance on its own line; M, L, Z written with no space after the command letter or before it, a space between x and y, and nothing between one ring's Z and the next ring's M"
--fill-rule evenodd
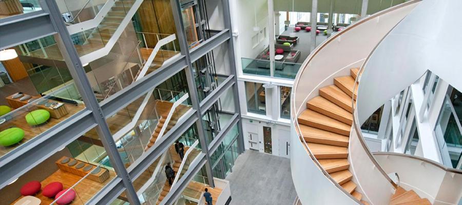
M6 101L9 106L2 106L0 116L0 156L85 109L73 84L43 97L12 94Z

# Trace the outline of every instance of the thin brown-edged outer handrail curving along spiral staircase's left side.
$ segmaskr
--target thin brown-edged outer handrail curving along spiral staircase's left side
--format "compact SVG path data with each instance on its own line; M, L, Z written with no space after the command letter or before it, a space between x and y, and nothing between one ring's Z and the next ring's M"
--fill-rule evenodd
M310 61L313 59L314 56L316 56L320 50L322 50L325 46L327 46L329 43L333 42L334 39L337 39L337 37L341 36L343 33L345 32L348 32L349 30L355 28L356 26L358 25L361 25L363 24L364 22L368 22L369 20L375 18L375 17L378 17L382 14L385 14L385 13L388 13L388 12L391 12L391 11L394 11L396 9L399 9L399 8L402 8L402 7L405 7L405 6L409 6L411 4L415 4L417 2L420 2L421 0L412 0L412 1L409 1L409 2L406 2L406 3L403 3L403 4L400 4L400 5L396 5L394 7L391 7L391 8L388 8L388 9L385 9L385 10L382 10L380 12L377 12L371 16L368 16L368 17L365 17L365 18L362 18L360 20L358 20L356 23L352 24L351 26L335 33L334 35L332 35L330 38L328 38L327 40L325 40L320 46L318 46L308 57L307 57L307 60L305 60L302 64L302 67L303 69L297 74L296 78L295 78L295 81L294 81L294 86L293 89L294 90L294 94L296 93L296 89L298 87L298 82L300 81L300 76L303 74L303 72L307 69L305 69L307 67L307 65L310 63ZM293 99L295 99L295 95L293 95ZM294 101L294 100L292 100ZM353 197L350 193L348 193L347 191L345 191L337 182L335 182L335 180L331 177L331 175L326 172L320 165L319 161L316 159L316 157L314 156L313 152L311 151L311 149L309 148L309 146L307 145L305 139L303 138L303 135L301 134L301 129L300 129L300 126L299 123L298 123L298 110L301 109L301 107L303 106L304 104L300 105L300 107L297 109L295 107L295 103L294 103L294 106L292 107L291 109L291 112L292 112L292 116L293 116L293 121L294 121L294 126L295 126L295 130L298 132L297 135L300 139L300 141L302 142L302 144L304 145L308 155L311 157L311 159L313 160L313 162L315 163L315 165L317 166L317 168L324 174L324 176L326 178L328 178L329 180L331 180L331 182L333 182L333 185L336 186L340 191L342 191L345 195L347 195L348 197L350 197L350 199L352 199L353 201L357 202L358 204L362 204L362 202L360 202L358 199L356 199L355 197ZM297 111L297 112L296 112ZM362 137L362 135L360 135ZM360 139L361 139L360 137ZM361 140L360 140L361 141ZM367 148L367 146L366 146ZM370 152L369 152L370 154ZM373 160L375 161L375 159ZM375 161L376 162L376 161ZM380 166L378 166L379 169ZM383 174L383 173L382 173ZM388 177L387 174L384 174L384 177L388 178L389 181L392 183L392 185L394 184L394 182L390 179L390 177Z

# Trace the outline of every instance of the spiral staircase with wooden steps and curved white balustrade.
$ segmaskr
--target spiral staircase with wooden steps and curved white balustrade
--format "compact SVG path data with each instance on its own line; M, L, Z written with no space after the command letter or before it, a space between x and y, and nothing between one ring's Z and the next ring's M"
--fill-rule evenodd
M356 110L364 65L420 3L365 17L304 61L291 99L291 172L299 204L456 204L426 198L392 179L365 145Z

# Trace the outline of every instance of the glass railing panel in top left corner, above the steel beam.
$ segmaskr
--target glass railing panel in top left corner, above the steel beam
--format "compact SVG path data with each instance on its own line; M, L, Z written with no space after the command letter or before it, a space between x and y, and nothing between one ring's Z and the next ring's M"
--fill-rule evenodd
M38 0L2 0L0 1L0 18L40 11Z

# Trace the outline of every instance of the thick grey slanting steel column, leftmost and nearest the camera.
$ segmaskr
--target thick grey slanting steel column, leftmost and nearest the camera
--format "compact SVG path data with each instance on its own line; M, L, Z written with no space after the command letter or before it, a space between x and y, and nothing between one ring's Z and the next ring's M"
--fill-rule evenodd
M93 117L97 122L96 127L98 135L100 136L101 142L103 143L104 149L111 161L117 175L122 178L124 186L126 188L126 195L130 204L141 204L138 199L137 193L133 188L131 179L125 169L122 158L119 155L117 147L115 147L114 139L106 124L103 111L96 97L93 94L90 82L88 81L85 70L83 69L82 62L80 61L79 54L74 48L72 40L69 35L69 31L63 22L61 13L54 0L44 0L48 6L51 21L56 27L58 34L55 35L56 43L63 55L66 65L69 69L72 78L74 79L75 86L82 95L82 99L87 109L92 111Z

